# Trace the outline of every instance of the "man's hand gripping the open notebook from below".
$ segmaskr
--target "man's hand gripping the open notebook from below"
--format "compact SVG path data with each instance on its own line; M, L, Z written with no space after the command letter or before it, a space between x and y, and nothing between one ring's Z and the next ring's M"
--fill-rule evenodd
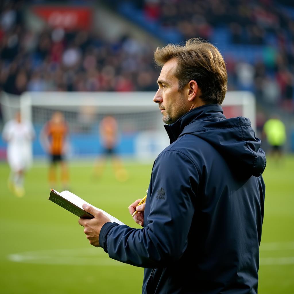
M83 209L88 213L91 213L94 218L90 220L86 218L80 218L78 223L84 227L84 233L86 234L90 244L95 247L101 247L99 244L101 228L105 223L108 223L111 220L104 213L94 209L92 206L83 204Z

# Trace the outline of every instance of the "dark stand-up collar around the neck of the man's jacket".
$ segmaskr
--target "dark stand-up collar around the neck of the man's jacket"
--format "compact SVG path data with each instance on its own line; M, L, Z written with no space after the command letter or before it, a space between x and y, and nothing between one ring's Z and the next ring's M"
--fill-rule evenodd
M216 116L216 114L218 114L219 116L220 113L223 118L225 118L225 116L222 114L223 108L220 105L206 104L188 111L174 123L170 125L164 125L164 128L168 133L170 143L176 141L181 133L183 133L184 128L188 126L191 122L202 120L203 118L214 117Z

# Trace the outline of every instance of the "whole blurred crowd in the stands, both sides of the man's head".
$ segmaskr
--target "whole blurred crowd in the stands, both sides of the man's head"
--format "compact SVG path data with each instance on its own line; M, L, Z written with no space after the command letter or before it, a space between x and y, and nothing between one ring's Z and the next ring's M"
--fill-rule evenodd
M229 90L251 90L257 98L293 110L294 7L261 1L133 1L146 19L178 30L184 39L210 40L218 27L230 44L263 46L260 59L224 57ZM155 48L122 36L109 42L97 31L27 29L24 1L8 1L0 14L0 87L24 91L154 91ZM293 13L291 14L290 12ZM218 46L218 44L216 44Z

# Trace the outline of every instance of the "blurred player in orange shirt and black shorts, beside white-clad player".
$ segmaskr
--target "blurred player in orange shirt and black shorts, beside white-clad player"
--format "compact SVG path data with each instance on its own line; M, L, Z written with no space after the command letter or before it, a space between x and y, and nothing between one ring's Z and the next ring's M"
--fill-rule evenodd
M65 161L66 141L68 137L68 126L64 115L56 111L51 120L48 121L41 131L41 143L45 151L50 155L49 183L52 188L56 185L57 163L61 167L61 184L64 189L68 187L69 171Z

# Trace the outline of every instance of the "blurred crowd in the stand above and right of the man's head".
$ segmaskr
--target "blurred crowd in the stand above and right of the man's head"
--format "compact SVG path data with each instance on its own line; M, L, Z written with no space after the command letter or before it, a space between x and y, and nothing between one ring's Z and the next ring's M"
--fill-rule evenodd
M230 44L263 47L260 58L251 62L223 52L228 88L254 91L258 99L293 111L293 1L143 0L136 5L147 19L179 31L186 40L195 36L211 40L214 30L223 27Z

